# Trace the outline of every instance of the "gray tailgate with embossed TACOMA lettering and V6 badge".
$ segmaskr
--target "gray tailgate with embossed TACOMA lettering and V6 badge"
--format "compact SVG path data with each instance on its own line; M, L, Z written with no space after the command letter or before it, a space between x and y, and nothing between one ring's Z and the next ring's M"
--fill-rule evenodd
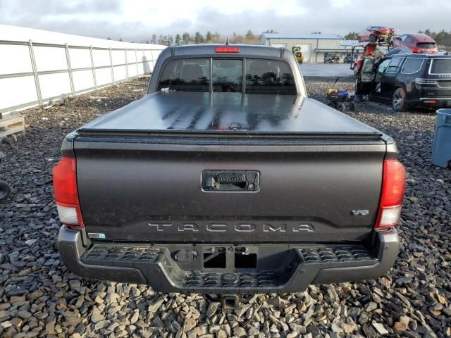
M74 150L92 239L338 242L371 234L385 142L244 146L78 137Z

